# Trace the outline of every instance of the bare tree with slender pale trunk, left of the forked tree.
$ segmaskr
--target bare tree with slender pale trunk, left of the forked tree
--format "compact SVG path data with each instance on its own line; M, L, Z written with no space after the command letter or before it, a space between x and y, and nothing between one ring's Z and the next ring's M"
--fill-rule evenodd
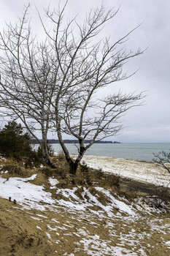
M18 23L9 23L0 33L1 114L19 118L41 146L47 164L55 167L47 147L47 132L56 66L47 43L31 37L27 12L28 7ZM37 131L42 134L41 140Z

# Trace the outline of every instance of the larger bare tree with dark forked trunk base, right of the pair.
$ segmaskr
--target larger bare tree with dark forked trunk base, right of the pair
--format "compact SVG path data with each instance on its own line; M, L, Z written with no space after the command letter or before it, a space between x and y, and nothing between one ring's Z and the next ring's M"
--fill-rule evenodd
M55 50L58 65L58 91L55 102L55 127L58 139L69 163L70 173L75 174L85 151L96 142L122 129L120 117L128 109L139 105L142 94L121 94L98 97L98 92L107 85L124 80L129 76L122 67L129 59L142 54L125 50L128 34L110 44L109 38L97 41L107 21L112 20L117 11L105 12L104 6L92 10L82 26L71 20L63 27L63 12L50 12L47 17L53 23L53 31L45 29L51 48ZM74 32L72 24L77 30ZM79 146L75 161L70 157L63 135L77 138ZM85 140L90 143L85 146Z

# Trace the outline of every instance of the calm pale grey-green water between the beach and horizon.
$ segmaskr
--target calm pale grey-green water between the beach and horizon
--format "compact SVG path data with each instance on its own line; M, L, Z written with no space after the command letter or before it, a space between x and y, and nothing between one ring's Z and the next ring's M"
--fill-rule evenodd
M52 146L55 152L62 152L60 144L52 144ZM77 147L74 144L66 144L66 147L69 149L70 154L77 153ZM152 161L154 158L153 153L169 150L170 143L96 143L93 144L85 154Z

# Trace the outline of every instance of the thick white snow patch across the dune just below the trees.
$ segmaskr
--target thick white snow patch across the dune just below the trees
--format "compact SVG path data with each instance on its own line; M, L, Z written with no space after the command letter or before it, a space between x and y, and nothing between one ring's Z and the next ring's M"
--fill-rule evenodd
M107 206L99 202L97 195L92 195L90 190L83 187L81 198L76 195L78 187L72 189L58 189L58 181L54 178L49 178L51 185L50 189L56 189L56 195L61 199L54 199L50 192L45 192L45 187L37 186L29 181L34 180L36 175L29 178L10 177L9 179L1 178L0 176L0 197L16 200L18 204L24 208L35 208L40 211L45 211L46 208L55 210L58 206L65 206L73 211L86 211L87 208L97 206L101 211L109 217L113 217L112 210L116 208L118 211L125 212L128 215L135 215L135 211L131 206L126 205L120 200L115 199L114 196L101 187L96 187L96 192L102 192L109 198ZM101 214L101 211L96 211L96 214Z

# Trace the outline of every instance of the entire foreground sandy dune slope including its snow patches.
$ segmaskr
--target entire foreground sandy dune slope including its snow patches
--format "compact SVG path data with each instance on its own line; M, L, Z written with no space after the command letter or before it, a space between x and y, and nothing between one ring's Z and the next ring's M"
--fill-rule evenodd
M104 161L107 168L109 159ZM101 187L97 180L90 185L75 181L69 175L62 178L56 170L50 177L41 169L18 177L4 166L0 255L170 255L170 214L164 203L155 208L156 197L128 200L115 187Z

